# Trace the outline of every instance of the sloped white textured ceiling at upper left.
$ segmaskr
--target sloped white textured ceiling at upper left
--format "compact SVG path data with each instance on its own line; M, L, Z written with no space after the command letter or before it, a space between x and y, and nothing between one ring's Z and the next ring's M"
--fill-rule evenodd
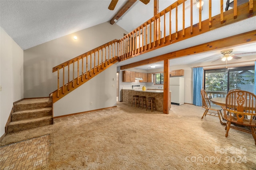
M1 0L0 25L23 49L110 21L111 0Z

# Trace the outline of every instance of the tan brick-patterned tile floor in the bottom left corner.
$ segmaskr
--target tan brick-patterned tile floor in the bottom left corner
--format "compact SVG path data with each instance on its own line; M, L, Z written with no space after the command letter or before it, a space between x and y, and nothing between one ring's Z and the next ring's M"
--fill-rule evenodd
M0 147L0 170L35 170L48 164L49 135Z

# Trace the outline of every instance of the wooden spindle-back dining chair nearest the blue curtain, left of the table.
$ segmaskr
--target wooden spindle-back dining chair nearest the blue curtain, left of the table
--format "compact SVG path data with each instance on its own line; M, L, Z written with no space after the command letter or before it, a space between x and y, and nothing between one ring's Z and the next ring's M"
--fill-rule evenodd
M223 116L221 113L222 108L220 106L211 106L210 100L204 89L201 90L201 96L202 96L202 107L205 108L202 119L206 115L211 115L211 116L219 117L220 123L222 125L226 125L226 123L222 122L222 119L223 119ZM220 116L222 117L222 119L220 118Z

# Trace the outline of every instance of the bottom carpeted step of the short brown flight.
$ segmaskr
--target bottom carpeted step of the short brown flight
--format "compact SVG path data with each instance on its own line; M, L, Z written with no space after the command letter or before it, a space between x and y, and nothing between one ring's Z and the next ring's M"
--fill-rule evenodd
M36 119L26 119L20 121L12 121L7 126L7 133L13 133L23 131L26 129L32 129L35 127L41 127L53 124L53 118L51 116L40 117Z

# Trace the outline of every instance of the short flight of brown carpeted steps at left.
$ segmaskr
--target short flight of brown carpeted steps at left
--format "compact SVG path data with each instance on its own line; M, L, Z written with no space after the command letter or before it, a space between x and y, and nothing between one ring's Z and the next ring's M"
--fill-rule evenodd
M24 99L14 104L7 133L13 133L53 124L52 99Z

